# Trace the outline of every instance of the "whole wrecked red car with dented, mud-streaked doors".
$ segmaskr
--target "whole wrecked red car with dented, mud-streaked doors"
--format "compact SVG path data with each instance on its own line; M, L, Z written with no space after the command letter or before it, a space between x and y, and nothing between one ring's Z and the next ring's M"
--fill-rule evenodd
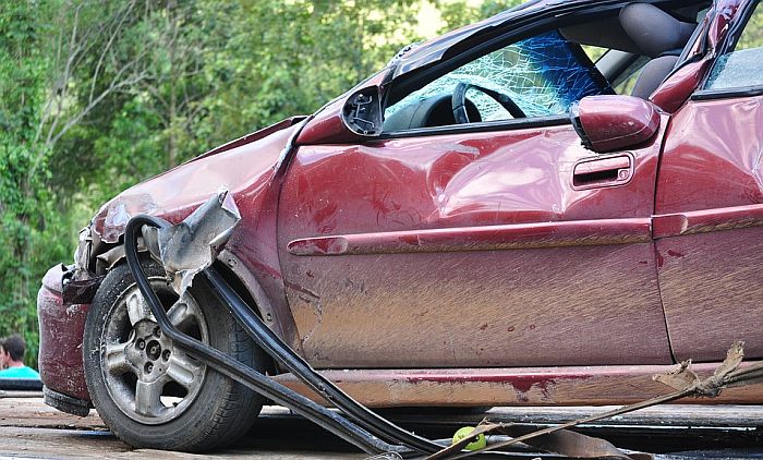
M241 221L217 270L371 407L627 403L735 340L763 359L761 21L753 0L531 1L124 191L43 280L46 401L140 446L246 432L262 398L173 347L124 262L132 216L179 222L220 186ZM144 270L180 329L308 394L209 292L175 303Z

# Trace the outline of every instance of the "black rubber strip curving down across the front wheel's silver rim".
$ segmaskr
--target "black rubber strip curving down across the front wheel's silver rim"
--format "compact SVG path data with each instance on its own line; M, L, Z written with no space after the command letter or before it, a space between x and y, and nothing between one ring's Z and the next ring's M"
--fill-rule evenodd
M128 266L130 267L133 278L135 278L141 293L148 303L157 324L161 328L162 334L166 334L175 346L184 349L218 372L237 382L241 382L276 403L293 410L298 414L328 429L365 452L384 453L396 451L399 453L410 453L409 449L383 441L355 423L341 416L341 414L311 401L296 391L178 330L172 323L170 323L159 298L152 289L148 279L141 268L137 255L137 235L144 225L164 228L169 223L150 216L135 216L130 219L124 230L124 253Z

